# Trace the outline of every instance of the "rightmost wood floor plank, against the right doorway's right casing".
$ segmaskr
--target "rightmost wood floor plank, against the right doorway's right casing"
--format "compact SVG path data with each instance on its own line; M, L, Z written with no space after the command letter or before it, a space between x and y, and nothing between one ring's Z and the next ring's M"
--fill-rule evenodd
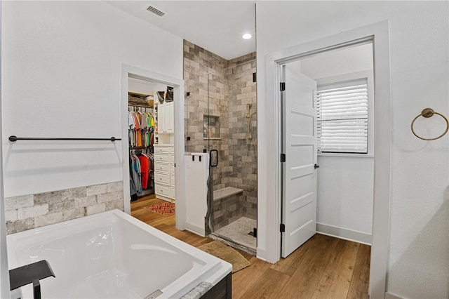
M368 286L370 280L370 254L371 247L361 244L358 248L356 266L352 274L351 286L347 299L368 299Z

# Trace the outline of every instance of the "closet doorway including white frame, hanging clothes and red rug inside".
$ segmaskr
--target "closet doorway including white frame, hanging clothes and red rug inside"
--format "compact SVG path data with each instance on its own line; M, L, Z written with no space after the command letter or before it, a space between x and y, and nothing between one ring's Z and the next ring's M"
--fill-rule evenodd
M185 202L177 190L184 186L184 175L175 171L175 166L184 165L180 159L184 123L176 119L183 112L182 91L182 80L122 67L122 135L127 136L122 138L125 212L131 212L130 201L159 199L159 208L143 207L146 213L176 209L175 222L180 230Z

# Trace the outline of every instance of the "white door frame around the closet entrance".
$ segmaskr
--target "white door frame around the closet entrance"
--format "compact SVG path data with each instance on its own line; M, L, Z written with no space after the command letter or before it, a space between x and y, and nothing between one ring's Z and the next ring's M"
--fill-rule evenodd
M123 200L125 213L130 214L130 186L128 163L128 77L140 77L143 80L154 81L173 86L173 105L175 110L175 199L176 228L185 230L185 171L184 171L184 81L181 79L151 72L132 65L121 65L121 148L123 164Z

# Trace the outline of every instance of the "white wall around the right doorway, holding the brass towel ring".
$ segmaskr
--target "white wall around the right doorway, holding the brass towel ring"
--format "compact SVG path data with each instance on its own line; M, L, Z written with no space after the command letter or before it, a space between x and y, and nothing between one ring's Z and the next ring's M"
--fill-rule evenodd
M448 298L449 159L446 135L424 142L410 123L424 107L449 114L448 2L260 1L257 2L258 238L267 252L275 223L267 205L276 198L274 110L265 95L265 56L331 34L389 20L392 148L391 241L387 291L403 298ZM317 16L319 15L320 18ZM282 16L276 18L276 16ZM386 119L386 121L388 121ZM422 126L443 131L436 118ZM271 217L271 219L273 219Z

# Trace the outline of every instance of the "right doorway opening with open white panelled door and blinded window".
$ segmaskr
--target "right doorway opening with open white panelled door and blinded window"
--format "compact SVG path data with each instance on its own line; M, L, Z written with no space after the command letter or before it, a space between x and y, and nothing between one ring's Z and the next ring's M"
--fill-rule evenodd
M282 65L281 256L316 232L371 244L374 81L371 41ZM307 89L309 88L309 89Z

